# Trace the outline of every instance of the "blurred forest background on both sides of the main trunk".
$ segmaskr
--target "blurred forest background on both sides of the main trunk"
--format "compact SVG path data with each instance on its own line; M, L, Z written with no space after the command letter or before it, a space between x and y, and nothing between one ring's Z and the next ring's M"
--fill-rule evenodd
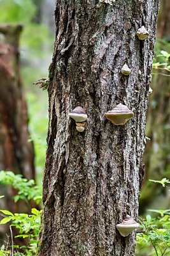
M48 95L46 90L32 83L48 77L55 40L54 8L55 0L0 0L0 168L21 174L28 180L35 179L38 186L41 186L45 165ZM143 157L146 173L139 206L139 214L143 217L146 214L154 217L159 215L159 210L170 208L168 181L166 186L160 186L158 182L149 180L170 179L169 52L170 1L161 0L152 70L153 93L149 96L146 118L147 138ZM1 184L4 198L1 198L0 209L27 213L32 207L38 211L41 209L36 189L37 197L29 195L29 200L23 203L21 199L23 195L25 199L23 188L26 183L18 188L19 176L17 181L11 176L8 179L11 181L3 172L0 173L0 182L8 185ZM33 186L36 188L35 184ZM21 191L20 196L16 189ZM17 203L13 202L12 196ZM148 209L156 209L157 212L149 212ZM36 216L35 210L33 213ZM1 218L4 214L10 215L2 212ZM9 225L0 225L0 245L7 230ZM16 243L21 246L24 237L23 241L19 238ZM1 250L3 252L4 247ZM145 253L141 250L136 255L155 255ZM27 252L24 255L34 254Z

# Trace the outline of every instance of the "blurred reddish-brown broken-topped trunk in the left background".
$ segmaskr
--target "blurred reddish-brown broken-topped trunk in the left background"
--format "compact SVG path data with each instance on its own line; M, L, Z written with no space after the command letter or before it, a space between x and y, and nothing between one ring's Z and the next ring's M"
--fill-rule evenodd
M27 106L19 68L18 44L21 31L20 25L0 26L0 170L34 179L34 150L32 142L28 141ZM14 203L15 189L1 185L1 195L5 195L1 199L1 209L11 212L30 211L24 201ZM6 239L4 225L1 225L1 232Z

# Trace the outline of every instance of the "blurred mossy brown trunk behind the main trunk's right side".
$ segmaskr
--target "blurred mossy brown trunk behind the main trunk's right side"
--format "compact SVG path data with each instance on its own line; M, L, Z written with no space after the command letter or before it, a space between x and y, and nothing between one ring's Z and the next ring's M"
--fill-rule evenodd
M157 54L160 54L160 50L169 52L170 49L170 1L162 0L160 3L157 25L157 48L159 51ZM167 40L167 43L161 39ZM144 214L146 209L169 209L170 207L169 189L148 181L148 179L160 180L163 177L170 179L169 75L170 72L167 70L153 68L153 93L150 95L146 118L146 136L150 140L146 143L143 156L146 172L139 203L140 214Z

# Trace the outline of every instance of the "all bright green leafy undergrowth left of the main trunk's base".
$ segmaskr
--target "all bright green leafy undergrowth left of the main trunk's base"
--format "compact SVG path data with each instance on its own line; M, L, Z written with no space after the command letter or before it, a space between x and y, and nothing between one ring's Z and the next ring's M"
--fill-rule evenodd
M11 185L18 190L18 195L14 196L15 202L18 199L25 200L26 202L33 199L36 204L41 200L42 189L35 185L34 180L27 180L22 178L22 175L15 175L13 172L0 172L0 183ZM0 196L2 198L3 196ZM11 223L10 227L18 228L20 234L15 237L22 237L27 239L27 246L1 246L1 255L11 255L12 250L15 256L32 256L35 255L38 244L38 232L41 222L41 212L36 208L31 209L32 214L25 213L12 213L6 210L0 210L4 218L1 220L0 225ZM18 252L18 249L23 253Z

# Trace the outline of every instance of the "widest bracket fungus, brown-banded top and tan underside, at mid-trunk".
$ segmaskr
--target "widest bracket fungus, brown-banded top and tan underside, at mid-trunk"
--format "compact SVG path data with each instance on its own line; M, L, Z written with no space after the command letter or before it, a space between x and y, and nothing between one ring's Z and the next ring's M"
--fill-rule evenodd
M118 104L115 108L113 108L111 111L108 111L105 115L112 124L124 125L129 119L134 116L134 113L129 108L127 108L127 106Z

